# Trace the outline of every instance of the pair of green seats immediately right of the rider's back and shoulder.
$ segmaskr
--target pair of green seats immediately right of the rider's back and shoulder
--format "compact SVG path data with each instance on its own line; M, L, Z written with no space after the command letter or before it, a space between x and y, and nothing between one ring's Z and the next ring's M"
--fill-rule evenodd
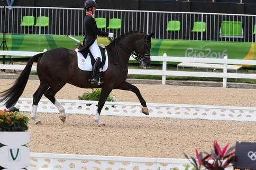
M95 18L98 28L106 28L106 18ZM121 19L120 18L111 18L109 19L108 29L120 29L121 28Z

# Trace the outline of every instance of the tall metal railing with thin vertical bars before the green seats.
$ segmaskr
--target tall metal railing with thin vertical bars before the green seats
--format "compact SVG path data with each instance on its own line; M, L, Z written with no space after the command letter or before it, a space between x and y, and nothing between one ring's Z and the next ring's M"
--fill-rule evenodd
M0 21L0 33L5 26L8 34L84 35L83 8L12 8L12 11L8 11L8 8L4 11L4 7L0 6L1 18L4 18L5 14L5 18ZM38 22L38 17L47 16L49 26L21 26L23 16L34 16L34 23ZM102 31L114 32L117 36L129 31L141 31L154 32L156 34L153 38L159 39L256 42L256 34L253 33L256 15L97 9L95 18L97 17L106 18L106 27L102 28ZM111 18L121 19L121 28L107 28ZM179 29L167 31L169 21L178 21ZM195 32L196 22L204 22L205 31L199 29ZM232 23L235 23L235 26Z

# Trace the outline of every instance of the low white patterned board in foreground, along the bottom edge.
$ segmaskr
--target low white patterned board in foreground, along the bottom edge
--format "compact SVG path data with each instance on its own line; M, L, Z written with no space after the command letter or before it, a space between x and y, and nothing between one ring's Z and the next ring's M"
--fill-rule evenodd
M192 169L187 159L30 153L29 170L48 169Z

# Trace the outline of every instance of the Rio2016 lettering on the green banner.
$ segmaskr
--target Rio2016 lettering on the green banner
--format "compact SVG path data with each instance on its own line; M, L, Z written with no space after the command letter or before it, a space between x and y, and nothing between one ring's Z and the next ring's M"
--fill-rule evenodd
M228 57L226 53L227 49L223 52L212 52L210 48L206 48L205 51L197 51L194 48L187 48L185 52L185 57L194 57L194 58L224 58L224 56Z

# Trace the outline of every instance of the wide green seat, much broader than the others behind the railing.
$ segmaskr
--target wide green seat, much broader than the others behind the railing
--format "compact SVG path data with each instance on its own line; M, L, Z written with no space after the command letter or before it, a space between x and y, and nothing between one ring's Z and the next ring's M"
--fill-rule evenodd
M223 21L221 23L220 37L243 38L242 22Z

